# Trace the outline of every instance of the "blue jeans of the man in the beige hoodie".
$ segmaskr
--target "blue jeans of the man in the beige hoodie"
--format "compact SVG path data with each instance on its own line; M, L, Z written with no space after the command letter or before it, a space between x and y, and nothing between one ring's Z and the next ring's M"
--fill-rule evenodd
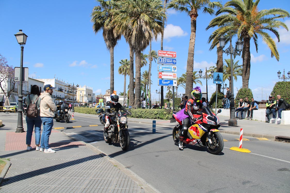
M48 149L48 143L49 143L49 136L51 133L51 129L53 126L53 117L41 117L42 121L42 135L41 135L41 140L40 140L40 147Z

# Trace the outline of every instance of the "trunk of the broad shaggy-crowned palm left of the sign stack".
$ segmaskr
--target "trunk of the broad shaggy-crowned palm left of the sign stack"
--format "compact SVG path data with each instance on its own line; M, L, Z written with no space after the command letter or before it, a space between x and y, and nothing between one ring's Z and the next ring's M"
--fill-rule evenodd
M141 98L141 50L135 52L135 107L140 107Z

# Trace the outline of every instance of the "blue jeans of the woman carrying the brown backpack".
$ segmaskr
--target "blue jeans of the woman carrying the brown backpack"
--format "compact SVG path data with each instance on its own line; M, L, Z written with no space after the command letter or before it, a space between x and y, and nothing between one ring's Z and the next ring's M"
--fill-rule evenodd
M40 144L40 130L41 130L41 119L40 116L37 117L28 117L26 116L26 124L27 124L27 131L26 131L26 144L31 144L31 137L32 131L34 128L35 133L35 145Z

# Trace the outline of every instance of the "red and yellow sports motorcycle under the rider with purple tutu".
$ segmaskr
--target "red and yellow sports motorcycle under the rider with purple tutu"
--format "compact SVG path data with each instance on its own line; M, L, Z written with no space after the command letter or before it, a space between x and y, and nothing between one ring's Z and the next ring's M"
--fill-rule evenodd
M220 112L222 112L222 110L219 109L218 113ZM202 111L197 111L197 114L194 114L193 116L197 121L191 122L187 136L184 136L183 143L206 147L210 153L215 155L222 152L222 149L224 148L224 139L218 130L220 127L218 117L207 107L203 108ZM174 143L178 146L182 121L178 120L176 112L173 112L173 117L179 123L174 127L172 133Z

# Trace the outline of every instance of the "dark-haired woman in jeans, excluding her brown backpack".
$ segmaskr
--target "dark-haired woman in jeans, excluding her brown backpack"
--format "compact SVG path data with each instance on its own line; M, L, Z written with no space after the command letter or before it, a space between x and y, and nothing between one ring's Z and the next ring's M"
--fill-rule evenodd
M26 97L26 104L29 105L30 101L34 101L34 104L37 106L37 109L40 110L40 92L39 87L37 85L33 85L31 88L31 94L27 95ZM37 100L36 100L37 99ZM34 128L35 133L35 145L36 150L39 151L40 147L40 130L41 130L41 118L40 113L36 117L28 117L26 115L26 124L27 124L27 131L26 131L26 144L27 144L27 151L32 150L31 145L31 137Z

